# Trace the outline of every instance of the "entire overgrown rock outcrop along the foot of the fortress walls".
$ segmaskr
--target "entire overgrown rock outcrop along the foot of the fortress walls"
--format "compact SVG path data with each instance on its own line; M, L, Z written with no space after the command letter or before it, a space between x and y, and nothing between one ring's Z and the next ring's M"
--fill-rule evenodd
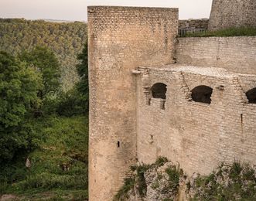
M234 162L222 163L209 175L188 177L166 158L152 165L132 167L115 200L255 200L255 167Z

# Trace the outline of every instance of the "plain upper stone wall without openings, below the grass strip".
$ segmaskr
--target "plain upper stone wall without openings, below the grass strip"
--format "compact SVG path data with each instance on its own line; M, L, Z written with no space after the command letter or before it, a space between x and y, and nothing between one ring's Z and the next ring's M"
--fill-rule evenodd
M256 36L179 38L178 63L256 74Z

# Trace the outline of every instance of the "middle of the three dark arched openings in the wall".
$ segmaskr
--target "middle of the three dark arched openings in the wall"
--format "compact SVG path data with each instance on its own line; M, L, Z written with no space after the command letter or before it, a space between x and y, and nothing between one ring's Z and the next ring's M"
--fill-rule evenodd
M210 97L213 94L213 89L205 85L200 85L191 90L193 101L203 104L210 104Z

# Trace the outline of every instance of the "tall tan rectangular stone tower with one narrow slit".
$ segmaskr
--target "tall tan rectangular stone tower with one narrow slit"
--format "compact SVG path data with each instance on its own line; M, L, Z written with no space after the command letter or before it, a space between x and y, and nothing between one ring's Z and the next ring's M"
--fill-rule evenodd
M173 63L178 9L88 7L89 198L111 200L136 162L138 66Z

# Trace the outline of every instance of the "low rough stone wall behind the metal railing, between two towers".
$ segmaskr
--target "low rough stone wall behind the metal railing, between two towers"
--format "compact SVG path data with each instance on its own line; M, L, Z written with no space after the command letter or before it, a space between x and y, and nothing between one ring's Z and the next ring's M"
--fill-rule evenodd
M209 19L179 20L179 29L208 29Z

